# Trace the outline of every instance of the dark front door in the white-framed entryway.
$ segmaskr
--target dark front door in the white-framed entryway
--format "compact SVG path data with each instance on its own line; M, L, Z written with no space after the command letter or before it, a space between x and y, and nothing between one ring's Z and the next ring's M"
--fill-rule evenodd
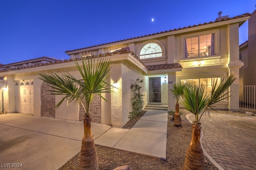
M149 102L161 103L161 77L149 78Z

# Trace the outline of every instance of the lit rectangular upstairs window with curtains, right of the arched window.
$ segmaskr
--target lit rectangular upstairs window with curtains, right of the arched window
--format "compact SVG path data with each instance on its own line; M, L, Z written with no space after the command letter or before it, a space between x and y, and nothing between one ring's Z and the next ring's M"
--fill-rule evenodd
M215 55L215 34L185 39L185 58Z

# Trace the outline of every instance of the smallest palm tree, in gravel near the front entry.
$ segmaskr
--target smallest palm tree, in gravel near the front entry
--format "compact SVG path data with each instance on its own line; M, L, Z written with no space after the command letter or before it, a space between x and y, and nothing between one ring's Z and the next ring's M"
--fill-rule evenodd
M184 87L185 84L183 83L183 81L180 81L178 83L174 83L174 85L170 89L173 95L172 97L176 99L175 114L172 115L172 118L174 119L174 126L177 127L181 126L179 99L184 95Z

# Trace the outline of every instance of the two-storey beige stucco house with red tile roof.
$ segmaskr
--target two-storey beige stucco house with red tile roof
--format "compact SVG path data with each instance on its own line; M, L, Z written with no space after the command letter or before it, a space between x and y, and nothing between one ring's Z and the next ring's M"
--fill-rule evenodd
M146 104L168 104L168 110L171 110L175 101L169 89L174 83L194 81L205 85L205 93L209 93L214 79L218 77L219 82L234 73L238 78L230 86L232 96L217 103L216 107L238 110L239 94L236 92L239 89L239 68L243 66L239 60L238 29L250 16L249 13L232 18L219 16L213 22L69 50L66 51L70 55L69 60L2 70L0 76L5 77L8 86L8 90L4 91L8 101L4 102L5 111L24 112L26 107L30 107L33 108L31 113L36 116L81 120L83 113L78 104L68 103L68 106L54 109L61 97L44 91L48 86L38 79L38 72L68 71L79 78L73 59L88 55L110 57L109 82L117 87L113 93L103 94L108 102L98 96L94 98L90 110L94 122L114 127L126 124L132 111L130 85L137 78L144 80L140 85ZM24 96L20 97L19 91L34 93L22 93Z

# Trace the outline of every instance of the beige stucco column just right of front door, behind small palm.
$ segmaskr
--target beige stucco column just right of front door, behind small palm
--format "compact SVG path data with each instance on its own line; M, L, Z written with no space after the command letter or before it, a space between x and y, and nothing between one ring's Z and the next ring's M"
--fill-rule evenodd
M168 111L175 109L176 99L173 99L173 95L169 90L176 83L176 72L168 73Z

